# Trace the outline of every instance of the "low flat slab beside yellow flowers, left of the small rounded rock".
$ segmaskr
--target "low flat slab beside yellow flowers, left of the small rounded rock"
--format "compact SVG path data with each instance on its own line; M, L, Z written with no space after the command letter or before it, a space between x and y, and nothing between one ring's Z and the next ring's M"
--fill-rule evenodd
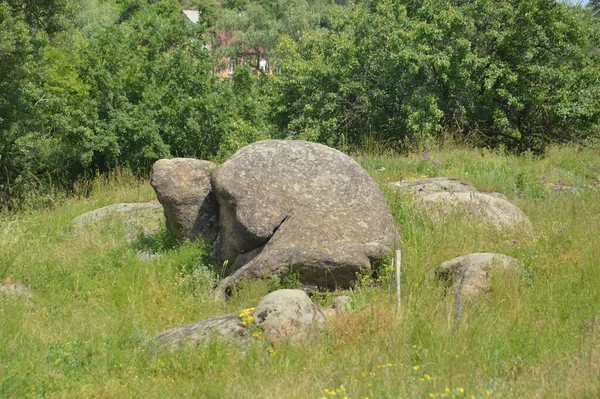
M242 326L238 315L230 313L172 328L154 337L153 341L158 346L177 346L182 343L198 345L210 338L245 343L250 338L250 333L248 328Z

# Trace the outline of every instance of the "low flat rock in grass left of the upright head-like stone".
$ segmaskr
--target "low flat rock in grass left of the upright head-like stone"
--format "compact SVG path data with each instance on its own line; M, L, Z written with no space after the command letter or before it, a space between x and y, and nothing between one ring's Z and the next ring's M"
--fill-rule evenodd
M133 242L140 234L151 235L165 225L162 206L156 200L140 203L108 205L77 216L71 226L83 229L92 225L121 221L125 227L125 239Z

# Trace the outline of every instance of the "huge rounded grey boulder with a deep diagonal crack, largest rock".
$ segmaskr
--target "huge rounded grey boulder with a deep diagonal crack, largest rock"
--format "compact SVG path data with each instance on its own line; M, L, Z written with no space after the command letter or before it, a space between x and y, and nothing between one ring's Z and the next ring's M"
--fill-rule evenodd
M257 142L218 168L212 184L216 255L233 272L224 289L290 269L305 286L348 287L393 248L395 224L377 183L332 148Z

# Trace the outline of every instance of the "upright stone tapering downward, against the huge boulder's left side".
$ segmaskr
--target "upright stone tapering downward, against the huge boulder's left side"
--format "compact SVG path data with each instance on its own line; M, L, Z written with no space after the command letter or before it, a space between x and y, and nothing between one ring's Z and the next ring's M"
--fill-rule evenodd
M210 183L215 168L212 162L190 158L161 159L152 166L150 184L177 240L201 236L212 244L216 239L219 209Z

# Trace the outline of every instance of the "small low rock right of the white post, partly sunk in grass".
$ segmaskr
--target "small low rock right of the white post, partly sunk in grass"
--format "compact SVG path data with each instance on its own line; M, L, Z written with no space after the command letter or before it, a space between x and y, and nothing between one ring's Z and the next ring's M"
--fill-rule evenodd
M441 263L436 277L452 284L453 292L478 296L490 288L490 274L518 273L524 266L510 256L494 253L474 253Z

